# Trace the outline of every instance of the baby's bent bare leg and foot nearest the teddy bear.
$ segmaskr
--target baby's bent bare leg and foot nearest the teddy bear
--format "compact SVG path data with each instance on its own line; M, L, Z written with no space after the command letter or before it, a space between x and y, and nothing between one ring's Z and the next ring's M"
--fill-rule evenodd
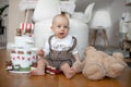
M60 69L67 78L71 78L76 73L75 70L73 67L70 67L68 63L62 64Z

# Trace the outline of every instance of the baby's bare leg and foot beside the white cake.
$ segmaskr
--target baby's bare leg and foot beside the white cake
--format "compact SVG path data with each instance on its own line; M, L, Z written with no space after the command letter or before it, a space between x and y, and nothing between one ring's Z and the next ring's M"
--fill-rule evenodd
M39 59L37 62L37 67L35 70L31 71L31 75L45 75L45 65L46 65L46 60Z

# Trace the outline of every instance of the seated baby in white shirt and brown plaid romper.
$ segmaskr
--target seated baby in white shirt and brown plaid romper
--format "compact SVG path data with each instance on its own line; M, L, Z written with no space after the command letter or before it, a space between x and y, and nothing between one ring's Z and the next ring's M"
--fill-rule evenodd
M33 75L45 75L47 65L62 71L67 78L72 78L78 72L72 64L80 62L76 49L76 38L69 35L69 20L64 14L58 14L52 20L51 29L53 35L46 41L44 49L38 51L43 57L38 60L36 70L31 71Z

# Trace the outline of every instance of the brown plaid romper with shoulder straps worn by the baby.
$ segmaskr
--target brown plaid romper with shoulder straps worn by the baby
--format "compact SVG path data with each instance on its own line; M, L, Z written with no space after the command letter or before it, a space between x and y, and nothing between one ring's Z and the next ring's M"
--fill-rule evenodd
M75 48L76 46L76 38L72 37L73 39L73 45L72 47L67 50L67 51L56 51L51 49L51 44L50 40L53 36L49 37L49 54L46 57L46 60L49 62L49 65L57 67L58 70L60 69L60 66L63 63L68 63L70 66L72 65L72 63L74 62L74 57L72 54L72 50Z

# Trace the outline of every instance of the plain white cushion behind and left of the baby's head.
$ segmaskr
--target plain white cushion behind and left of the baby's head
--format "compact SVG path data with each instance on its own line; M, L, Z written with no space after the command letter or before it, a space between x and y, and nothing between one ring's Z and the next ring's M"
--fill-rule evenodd
M59 0L38 0L34 11L33 21L38 22L52 18L60 13L59 3Z

